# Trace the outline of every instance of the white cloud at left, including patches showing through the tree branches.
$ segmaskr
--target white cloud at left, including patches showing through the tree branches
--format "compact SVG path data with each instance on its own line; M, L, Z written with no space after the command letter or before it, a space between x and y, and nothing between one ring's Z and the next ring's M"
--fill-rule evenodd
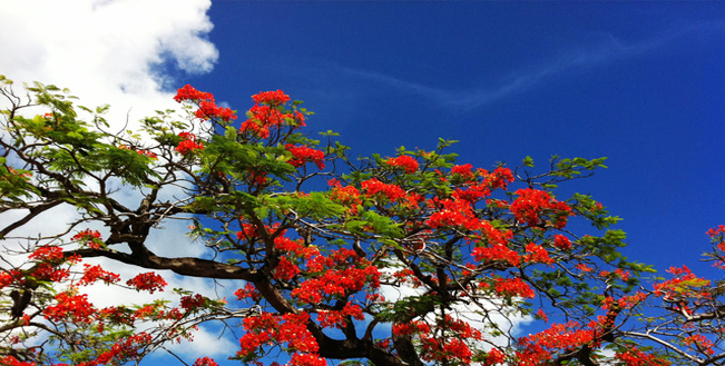
M218 51L207 40L213 24L207 17L209 0L8 0L0 7L0 73L17 83L40 81L70 89L87 107L110 105L106 116L112 131L127 122L135 126L138 119L155 110L177 108L172 97L179 87L172 72L208 72L217 60ZM20 88L18 88L20 89ZM36 112L36 111L33 111ZM136 207L137 191L121 188L115 197ZM166 196L179 195L180 189L167 190ZM12 222L23 212L0 215L0 221ZM22 228L13 237L55 235L68 228L78 217L70 206L49 210ZM169 221L149 236L149 247L158 255L180 257L199 256L204 245L192 243L184 236L185 221ZM98 229L100 222L77 229ZM74 235L76 230L70 233ZM2 241L6 247L18 247L21 239ZM118 248L121 251L123 248ZM9 258L17 266L22 257ZM101 263L104 268L118 271L124 280L143 268L130 267L108 259L91 258L86 263ZM80 268L78 268L80 269ZM235 288L219 289L209 279L182 277L170 271L159 271L169 283L169 290L183 287L212 298L232 296ZM229 285L233 286L233 285ZM84 290L96 306L111 304L141 304L155 298L177 298L169 291L154 295L125 290L114 286L96 285ZM217 294L217 290L219 294ZM214 354L229 345L218 342L208 329L202 328L196 342L183 349L199 354ZM199 348L200 347L200 348ZM218 348L222 347L222 348ZM204 349L200 352L199 349ZM225 349L228 350L228 349Z

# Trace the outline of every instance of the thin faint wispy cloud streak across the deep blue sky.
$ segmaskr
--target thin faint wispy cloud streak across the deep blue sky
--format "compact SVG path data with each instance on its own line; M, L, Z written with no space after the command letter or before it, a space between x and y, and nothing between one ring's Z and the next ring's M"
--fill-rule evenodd
M703 22L669 29L657 36L638 41L625 41L608 33L592 34L589 44L576 49L562 49L553 57L519 70L510 71L494 86L468 89L443 89L404 80L373 70L354 69L336 65L346 75L371 80L390 88L431 99L440 107L463 112L498 102L504 98L528 92L545 82L568 73L586 71L617 61L664 49L686 38L722 36L725 21Z

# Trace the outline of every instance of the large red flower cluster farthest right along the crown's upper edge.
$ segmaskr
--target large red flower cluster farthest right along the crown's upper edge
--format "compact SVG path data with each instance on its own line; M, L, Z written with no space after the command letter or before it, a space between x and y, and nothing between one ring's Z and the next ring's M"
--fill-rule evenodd
M536 226L546 211L551 215L556 228L566 226L567 218L571 215L571 207L566 202L557 201L548 192L538 189L519 189L516 194L519 197L511 204L510 210L519 222Z

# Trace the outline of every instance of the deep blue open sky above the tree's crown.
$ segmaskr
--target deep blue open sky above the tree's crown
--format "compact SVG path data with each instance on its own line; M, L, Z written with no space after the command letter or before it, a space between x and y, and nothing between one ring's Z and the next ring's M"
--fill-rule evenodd
M214 71L246 109L283 89L357 154L460 140L461 162L609 158L565 185L624 220L633 259L698 264L725 221L725 6L215 1ZM562 192L564 194L564 192Z

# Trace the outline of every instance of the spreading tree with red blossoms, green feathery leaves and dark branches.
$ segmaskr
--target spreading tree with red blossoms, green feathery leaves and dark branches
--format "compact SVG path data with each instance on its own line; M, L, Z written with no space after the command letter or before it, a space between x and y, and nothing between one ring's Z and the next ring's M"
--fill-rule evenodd
M115 133L108 107L1 80L2 364L134 363L205 323L238 332L229 356L253 364L725 363L723 281L683 267L643 283L653 270L619 254L618 218L556 195L604 158L487 170L457 165L440 140L355 159L332 131L304 135L311 113L280 90L253 96L237 122L186 86L180 113ZM61 233L17 234L58 207L78 212ZM149 233L172 220L207 255L154 253ZM723 268L725 227L709 234ZM242 286L209 298L167 288L157 270ZM166 297L96 307L85 293L96 283ZM539 332L516 337L517 317ZM215 365L204 356L195 365Z

